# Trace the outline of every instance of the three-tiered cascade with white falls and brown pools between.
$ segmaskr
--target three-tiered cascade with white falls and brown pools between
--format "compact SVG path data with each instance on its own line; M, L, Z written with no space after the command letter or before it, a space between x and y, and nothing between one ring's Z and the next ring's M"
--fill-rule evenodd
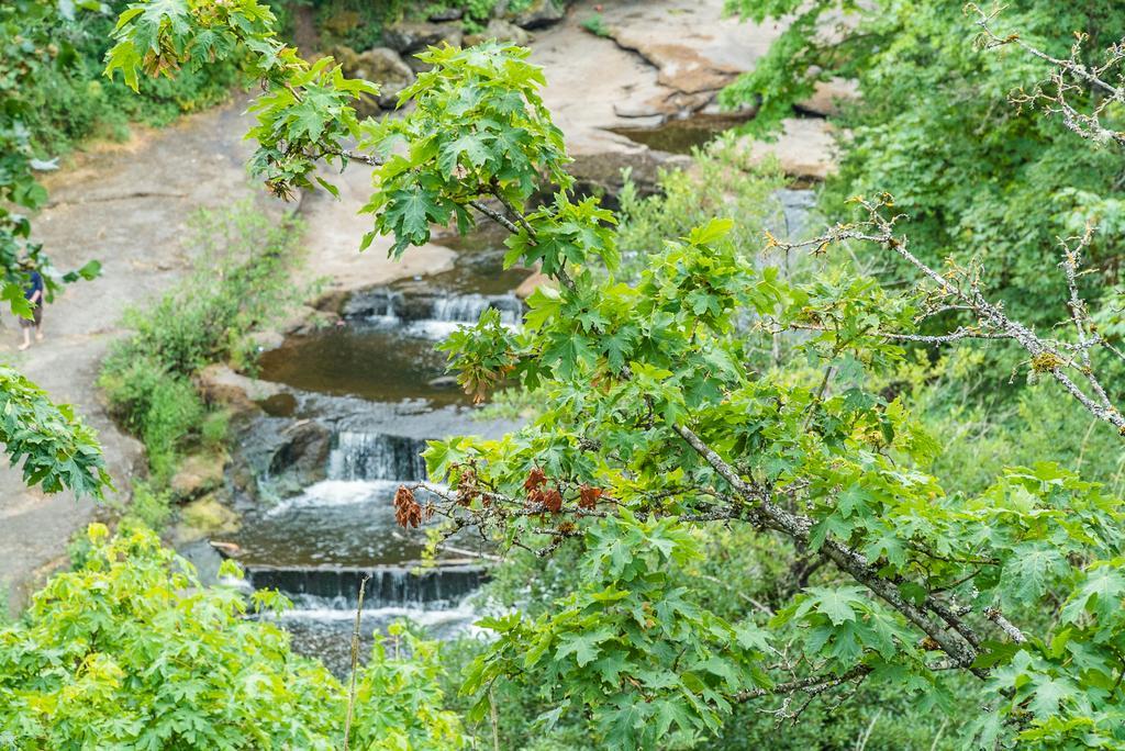
M350 664L363 577L369 577L367 640L399 617L425 624L439 637L471 630L477 617L470 595L489 571L487 557L476 558L480 541L454 536L439 550L434 565L421 568L424 531L398 528L393 499L398 483L426 479L425 442L414 436L465 429L498 437L501 425L467 423L461 401L443 398L457 391L434 384L443 361L433 354L434 340L489 309L500 311L505 326L522 322L523 301L512 292L496 293L504 288L488 286L492 277L492 271L485 279L474 270L444 282L415 279L356 293L342 311L350 325L302 345L307 364L299 359L273 363L277 380L322 395L308 401L302 418L332 431L326 459L323 442L320 453L306 452L324 461L325 471L302 492L248 516L233 543L246 585L277 589L292 600L295 608L280 622L297 649L334 670ZM418 500L425 503L424 494Z

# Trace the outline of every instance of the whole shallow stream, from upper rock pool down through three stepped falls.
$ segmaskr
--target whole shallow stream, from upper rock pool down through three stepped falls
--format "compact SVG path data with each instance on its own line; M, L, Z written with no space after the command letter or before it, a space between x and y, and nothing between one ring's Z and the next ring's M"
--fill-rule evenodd
M674 125L675 138L686 128L695 139L714 123ZM782 190L776 199L776 229L799 233L812 191ZM458 254L450 271L356 292L340 325L291 335L262 354L259 378L279 390L259 402L263 414L235 451L242 474L253 478L236 499L242 525L230 539L246 585L290 598L294 609L279 622L295 649L341 675L364 577L363 655L396 618L439 639L471 633L471 596L488 578L479 555L488 551L468 535L420 565L425 530L399 528L393 498L400 483L425 479L426 440L498 437L518 427L480 419L435 345L488 308L518 326L523 302L513 290L530 272L503 269L503 236L490 229L438 242Z

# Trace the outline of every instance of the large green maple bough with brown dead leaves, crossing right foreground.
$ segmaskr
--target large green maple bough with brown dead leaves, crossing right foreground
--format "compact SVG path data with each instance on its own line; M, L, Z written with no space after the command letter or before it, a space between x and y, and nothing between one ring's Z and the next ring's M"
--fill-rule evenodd
M460 116L457 102L487 90L475 79L488 67L462 67L472 54L435 70L449 85L430 88L428 106L399 130L433 134L434 105L443 101ZM493 70L510 78L520 69L508 61ZM456 139L423 137L388 162L380 186L408 179L440 205L442 180L453 173L441 162L443 138ZM969 731L984 745L1012 732L1025 743L1122 740L1116 621L1091 604L1120 553L1119 504L1047 464L1010 469L979 496L951 494L925 472L937 445L901 401L864 388L902 358L880 331L909 332L920 299L891 296L854 273L785 283L776 269L758 271L723 245L726 221L667 242L649 256L639 283L623 286L588 268L615 266L608 212L591 201L570 203L562 192L524 214L523 174L488 172L507 162L487 150L464 160L456 174L466 180L447 200L504 199L513 260L542 262L561 289L532 296L522 333L486 315L450 340L468 390L516 378L546 383L547 399L538 420L503 441L433 444L431 476L453 488L439 513L454 526L498 531L510 544L544 535L544 553L582 536L584 524L609 525L614 560L622 562L644 560L658 544L644 534L652 522L630 528L624 509L675 517L673 524L746 523L789 537L836 572L822 586L791 592L768 621L740 624L746 654L728 650L714 659L706 640L718 631L686 636L684 646L682 633L650 622L648 577L624 576L600 590L591 582L587 596L603 598L596 608L584 608L579 591L528 631L518 618L494 623L500 637L477 662L482 678L547 686L558 700L579 703L600 726L593 732L611 744L651 744L654 720L660 730L691 735L713 730L730 700L824 693L860 680L915 693L919 706L942 706L961 688L958 671L983 681L993 697ZM872 210L878 216L880 208ZM399 224L393 211L377 216L382 229ZM800 350L824 370L822 384L745 369L755 344L747 314L816 332ZM597 533L585 535L600 549ZM672 565L669 558L663 568ZM1116 603L1116 585L1108 587L1101 596ZM636 596L633 607L610 605ZM1069 606L1045 622L1041 600ZM693 612L708 622L705 610ZM616 621L619 613L627 619ZM1011 618L1042 633L1028 636ZM532 671L534 650L507 661L508 650L525 650L531 634L543 632L560 634L544 648L555 660L548 676ZM664 650L701 662L688 669L673 660L652 673L638 660ZM1098 654L1097 667L1083 661L1076 669L1073 650ZM803 676L806 669L813 675ZM746 682L710 682L731 676Z

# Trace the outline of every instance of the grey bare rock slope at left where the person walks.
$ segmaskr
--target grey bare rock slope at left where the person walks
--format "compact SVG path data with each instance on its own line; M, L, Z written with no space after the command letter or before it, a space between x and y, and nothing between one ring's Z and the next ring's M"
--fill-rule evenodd
M51 175L51 203L35 218L35 234L60 269L89 260L102 275L72 286L45 310L46 338L18 352L19 329L2 316L0 359L16 365L57 401L73 404L99 432L119 489L143 467L141 446L116 428L96 387L98 365L126 306L165 289L189 266L184 233L198 207L250 198L241 134L248 120L238 102L186 118L127 144L80 155ZM24 601L44 571L65 560L72 533L99 509L71 494L44 496L19 473L0 469L0 590Z

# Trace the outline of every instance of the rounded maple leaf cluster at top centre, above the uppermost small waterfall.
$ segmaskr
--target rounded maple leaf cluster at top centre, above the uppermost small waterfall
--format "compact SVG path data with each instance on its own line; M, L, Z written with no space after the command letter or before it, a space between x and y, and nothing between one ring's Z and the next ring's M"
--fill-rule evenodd
M528 55L495 43L418 55L433 67L398 96L414 110L363 128L361 147L385 160L363 209L375 215L363 247L377 234L394 234L398 256L428 242L431 224L456 218L467 232L470 203L482 196L524 211L541 179L570 186L562 133L543 107L543 76Z

